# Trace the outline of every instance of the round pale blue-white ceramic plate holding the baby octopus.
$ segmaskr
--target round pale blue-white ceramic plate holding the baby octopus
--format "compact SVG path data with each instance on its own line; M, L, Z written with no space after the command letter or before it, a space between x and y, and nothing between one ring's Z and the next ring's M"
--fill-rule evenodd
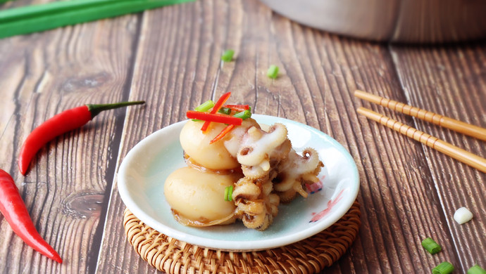
M227 251L281 247L315 235L338 221L356 200L359 190L356 164L347 150L310 126L279 117L252 117L260 124L285 124L294 149L301 152L315 148L325 164L319 174L323 187L309 190L306 199L297 197L289 204L280 204L278 216L267 230L245 228L241 221L208 228L183 226L175 221L163 195L163 184L172 171L185 167L179 133L186 121L152 133L123 159L118 171L118 191L127 208L165 235Z

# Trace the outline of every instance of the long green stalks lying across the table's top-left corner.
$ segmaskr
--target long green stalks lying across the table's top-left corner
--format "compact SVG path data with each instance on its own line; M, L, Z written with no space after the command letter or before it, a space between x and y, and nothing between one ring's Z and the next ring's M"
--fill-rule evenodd
M1 0L0 0L1 1ZM194 0L70 0L0 11L0 38Z

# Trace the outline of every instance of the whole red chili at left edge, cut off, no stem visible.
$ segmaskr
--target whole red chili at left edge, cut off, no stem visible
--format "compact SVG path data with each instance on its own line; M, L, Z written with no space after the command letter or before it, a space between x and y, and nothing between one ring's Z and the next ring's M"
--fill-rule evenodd
M13 232L29 244L30 247L40 252L49 259L58 263L63 260L57 252L44 240L35 229L29 216L24 201L18 193L18 188L13 182L12 176L0 169L0 212Z

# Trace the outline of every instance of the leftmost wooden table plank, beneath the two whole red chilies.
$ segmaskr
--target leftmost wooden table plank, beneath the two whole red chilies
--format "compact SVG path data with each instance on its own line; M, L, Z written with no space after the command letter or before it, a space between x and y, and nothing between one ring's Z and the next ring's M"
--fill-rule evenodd
M64 260L34 252L0 216L1 273L94 270L125 110L101 113L48 143L25 177L17 158L30 131L56 113L127 98L137 24L132 15L0 40L0 168L13 176L37 230Z

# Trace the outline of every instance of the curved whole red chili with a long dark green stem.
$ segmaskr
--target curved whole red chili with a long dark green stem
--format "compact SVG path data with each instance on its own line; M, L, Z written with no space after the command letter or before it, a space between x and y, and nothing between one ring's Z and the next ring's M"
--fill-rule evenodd
M20 173L25 175L30 161L37 154L37 152L46 143L56 138L57 136L77 129L83 126L89 120L93 119L99 112L104 110L111 110L113 108L125 107L127 105L140 105L145 101L135 102L121 102L114 104L101 104L101 105L82 105L70 110L65 110L58 115L55 115L51 119L37 126L25 139L25 142L20 149L20 157L18 159L18 168Z

